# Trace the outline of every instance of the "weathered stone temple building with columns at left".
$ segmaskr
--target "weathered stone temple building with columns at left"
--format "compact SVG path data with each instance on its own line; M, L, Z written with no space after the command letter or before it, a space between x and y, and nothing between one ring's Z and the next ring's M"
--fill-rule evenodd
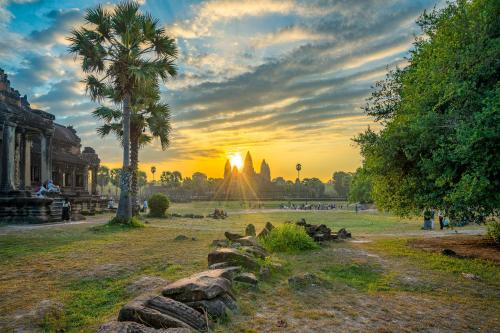
M60 221L65 198L74 216L93 213L102 205L97 196L99 163L94 149L81 151L74 128L32 108L0 69L0 221ZM37 197L35 191L48 180L61 193Z

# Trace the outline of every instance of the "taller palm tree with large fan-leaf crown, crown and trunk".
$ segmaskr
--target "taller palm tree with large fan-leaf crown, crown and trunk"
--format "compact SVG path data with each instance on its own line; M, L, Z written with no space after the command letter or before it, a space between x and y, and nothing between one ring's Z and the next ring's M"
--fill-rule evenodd
M99 5L88 9L85 25L73 30L69 52L80 57L86 91L93 101L110 99L123 110L123 169L120 181L120 202L116 217L129 221L130 202L130 104L134 93L144 85L166 80L176 74L175 41L158 20L139 12L140 5L124 1L114 10Z

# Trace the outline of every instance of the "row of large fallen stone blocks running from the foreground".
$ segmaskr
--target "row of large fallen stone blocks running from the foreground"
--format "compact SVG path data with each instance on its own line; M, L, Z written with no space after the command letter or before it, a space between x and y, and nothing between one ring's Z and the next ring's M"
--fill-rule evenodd
M272 228L268 223L264 230L269 232ZM209 270L172 283L165 281L161 295L151 293L161 279L147 277L137 281L141 287L147 285L143 288L147 293L125 304L118 314L118 321L101 325L97 333L209 331L210 319L223 317L228 311L238 308L232 290L233 281L255 287L258 278L252 272L258 272L259 277L266 275L262 271L267 267L261 269L258 259L269 253L251 235L252 229L255 234L255 227L247 226L246 236L226 232L226 240L212 243L217 248L208 254ZM235 244L238 244L238 249L230 247ZM142 288L133 289L135 293L135 289Z

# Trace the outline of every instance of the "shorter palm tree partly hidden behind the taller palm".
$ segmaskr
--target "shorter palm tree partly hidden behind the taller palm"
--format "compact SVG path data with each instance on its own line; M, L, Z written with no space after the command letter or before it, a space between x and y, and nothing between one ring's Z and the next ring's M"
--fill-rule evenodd
M153 138L160 140L163 150L167 149L170 143L170 109L167 104L157 103L156 100L151 104L144 105L146 101L143 98L133 99L131 105L130 118L130 169L131 169L131 200L133 207L137 207L138 171L139 171L139 149L150 143ZM105 122L97 129L101 137L110 133L123 141L123 131L121 123L123 112L118 109L108 107L98 107L93 115ZM134 214L137 211L134 209Z

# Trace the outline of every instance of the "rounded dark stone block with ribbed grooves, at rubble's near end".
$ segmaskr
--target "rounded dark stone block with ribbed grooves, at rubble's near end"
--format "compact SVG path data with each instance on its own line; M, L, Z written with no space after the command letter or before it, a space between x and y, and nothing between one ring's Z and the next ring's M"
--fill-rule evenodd
M189 306L173 299L143 295L125 304L118 321L134 321L154 328L187 328L206 331L205 318Z

